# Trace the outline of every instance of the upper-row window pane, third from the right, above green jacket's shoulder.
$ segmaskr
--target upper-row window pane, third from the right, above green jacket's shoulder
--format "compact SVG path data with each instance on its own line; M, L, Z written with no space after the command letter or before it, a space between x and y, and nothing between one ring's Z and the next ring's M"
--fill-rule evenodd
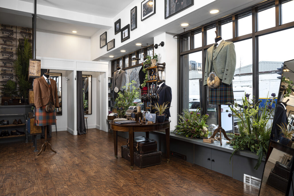
M238 36L252 33L252 13L251 11L238 15Z

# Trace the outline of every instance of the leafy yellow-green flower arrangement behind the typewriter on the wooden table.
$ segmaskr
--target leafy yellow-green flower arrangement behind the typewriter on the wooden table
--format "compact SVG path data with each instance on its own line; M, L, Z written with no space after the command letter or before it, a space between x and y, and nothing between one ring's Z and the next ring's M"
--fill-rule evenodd
M126 114L126 110L130 106L136 106L136 104L133 103L135 99L139 98L139 89L136 88L136 83L136 81L132 80L131 83L127 83L126 86L123 86L123 88L125 89L123 93L118 93L118 98L116 98L115 100L118 118L123 118L123 116Z

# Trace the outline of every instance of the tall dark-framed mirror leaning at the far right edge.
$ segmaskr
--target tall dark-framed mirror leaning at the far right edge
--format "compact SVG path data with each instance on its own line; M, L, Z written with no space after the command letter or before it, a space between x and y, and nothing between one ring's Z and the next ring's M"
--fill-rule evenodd
M281 83L273 118L260 195L294 195L294 60L281 67Z

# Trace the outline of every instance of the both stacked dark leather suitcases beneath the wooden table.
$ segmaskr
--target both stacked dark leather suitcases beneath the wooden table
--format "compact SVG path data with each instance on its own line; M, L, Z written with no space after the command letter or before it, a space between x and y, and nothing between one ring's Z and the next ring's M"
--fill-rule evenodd
M121 146L121 156L130 161L130 146ZM134 164L140 168L161 164L161 151L157 151L157 141L142 136L135 137L133 142Z

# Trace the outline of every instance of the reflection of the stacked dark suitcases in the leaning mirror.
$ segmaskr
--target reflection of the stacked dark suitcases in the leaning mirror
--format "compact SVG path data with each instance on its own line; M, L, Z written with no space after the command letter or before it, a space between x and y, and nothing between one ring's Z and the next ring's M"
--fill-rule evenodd
M270 171L266 183L282 192L286 192L288 180L290 178L290 171L291 167L277 161L275 167Z

